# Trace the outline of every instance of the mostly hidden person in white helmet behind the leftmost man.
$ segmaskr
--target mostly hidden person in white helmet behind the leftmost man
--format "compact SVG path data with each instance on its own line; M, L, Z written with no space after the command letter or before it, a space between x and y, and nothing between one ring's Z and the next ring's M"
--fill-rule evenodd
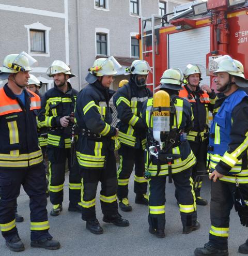
M29 74L27 89L36 93L41 98L41 94L39 91L41 87L42 87L42 82L39 81L33 74ZM46 173L46 185L48 186L49 172L48 172L47 155L46 155L46 146L48 145L48 127L41 126L39 123L37 124L37 126L38 126L38 141L39 141L39 146L42 150L43 164L44 164L45 173ZM46 189L46 197L49 197L49 188Z

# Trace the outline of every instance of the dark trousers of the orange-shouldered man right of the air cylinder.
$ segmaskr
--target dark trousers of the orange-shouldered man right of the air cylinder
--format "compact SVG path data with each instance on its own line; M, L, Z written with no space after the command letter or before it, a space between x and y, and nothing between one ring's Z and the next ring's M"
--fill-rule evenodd
M207 170L206 163L207 163L208 140L201 142L199 141L199 138L198 140L197 138L196 138L196 141L189 141L191 150L193 151L196 158L196 164L192 168L193 182L196 180L196 177L198 175L203 175L204 174L203 171ZM195 197L200 196L200 189L201 189L201 184L203 183L203 177L199 177L199 179L197 178L197 183L195 184L195 187L194 187Z

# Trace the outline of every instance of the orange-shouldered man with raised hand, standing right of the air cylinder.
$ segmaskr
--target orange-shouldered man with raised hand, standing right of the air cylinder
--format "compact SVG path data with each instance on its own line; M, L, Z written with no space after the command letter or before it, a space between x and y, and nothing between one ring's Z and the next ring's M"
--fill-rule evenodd
M196 204L207 205L207 200L200 197L203 178L202 176L197 177L197 175L203 175L207 169L209 110L213 110L216 96L208 85L199 86L203 79L198 65L188 64L184 71L184 77L187 81L182 86L183 89L179 92L179 97L190 102L194 116L194 126L188 133L187 139L196 157L196 165L192 168Z

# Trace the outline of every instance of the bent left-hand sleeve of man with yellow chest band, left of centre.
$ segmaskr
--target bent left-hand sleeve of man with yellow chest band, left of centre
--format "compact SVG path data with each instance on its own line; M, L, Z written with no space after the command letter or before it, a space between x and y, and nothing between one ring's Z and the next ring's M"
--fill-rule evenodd
M38 112L38 126L41 127L60 127L59 119L61 116L50 116L50 102L46 96L41 97L41 109Z

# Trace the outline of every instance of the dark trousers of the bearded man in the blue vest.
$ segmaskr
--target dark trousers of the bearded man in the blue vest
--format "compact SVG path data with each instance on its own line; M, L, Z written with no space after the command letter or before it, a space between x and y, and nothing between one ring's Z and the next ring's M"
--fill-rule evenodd
M248 184L239 184L248 194ZM209 242L216 248L227 249L230 211L234 206L235 183L222 182L217 179L211 182L210 218L211 229ZM239 224L238 220L236 224Z

